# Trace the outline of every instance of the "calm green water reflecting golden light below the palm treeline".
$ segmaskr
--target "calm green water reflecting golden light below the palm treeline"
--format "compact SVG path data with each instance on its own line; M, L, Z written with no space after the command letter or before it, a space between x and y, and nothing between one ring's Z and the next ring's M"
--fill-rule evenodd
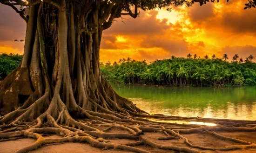
M256 86L161 87L112 85L115 91L149 114L256 120Z

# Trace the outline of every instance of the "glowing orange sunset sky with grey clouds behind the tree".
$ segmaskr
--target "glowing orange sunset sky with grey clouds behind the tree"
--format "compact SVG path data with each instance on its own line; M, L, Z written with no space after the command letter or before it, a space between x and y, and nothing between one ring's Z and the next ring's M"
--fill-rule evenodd
M246 0L229 0L200 6L142 11L136 19L123 16L103 31L100 61L118 62L130 57L146 62L156 59L200 57L213 54L229 61L235 54L256 57L256 9L244 10ZM9 6L0 6L0 52L23 54L26 23ZM256 62L256 59L253 60Z

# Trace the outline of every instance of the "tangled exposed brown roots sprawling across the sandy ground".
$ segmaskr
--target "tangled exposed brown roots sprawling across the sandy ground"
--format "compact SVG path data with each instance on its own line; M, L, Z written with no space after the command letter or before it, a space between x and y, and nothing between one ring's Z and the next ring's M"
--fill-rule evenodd
M28 110L27 110L28 111ZM47 112L47 111L46 111ZM173 124L168 124L166 122L155 122L151 121L136 121L133 119L117 119L115 115L107 115L104 113L94 114L95 116L101 118L106 115L106 118L103 120L91 120L91 119L77 119L74 120L71 118L69 114L61 111L59 116L54 119L54 117L50 114L45 113L46 115L40 115L37 120L37 124L35 122L18 122L13 121L11 126L2 125L2 130L0 131L0 142L7 140L16 140L20 138L32 138L35 139L36 142L30 146L24 147L17 151L17 153L26 153L28 151L34 150L40 146L45 145L55 145L65 142L83 142L89 143L92 147L98 147L103 149L121 149L125 151L132 151L137 153L149 153L150 148L164 149L164 150L174 150L185 153L206 153L211 152L211 150L220 150L220 151L228 151L234 149L247 149L256 147L255 142L249 142L245 140L239 140L236 138L230 138L221 134L217 134L215 131L228 131L232 133L236 132L248 132L252 134L256 134L256 129L253 127L227 127L226 125L218 125L214 127L189 127L188 129L184 129L184 127L188 127L186 124L177 124L176 126ZM24 112L26 113L26 112ZM82 112L80 112L82 114ZM7 116L7 115L5 115ZM2 119L4 119L4 117ZM44 117L42 117L44 116ZM61 116L61 117L60 117ZM154 117L148 115L148 117ZM168 116L165 116L168 117ZM173 116L169 116L172 120ZM67 121L67 118L68 121ZM88 117L89 118L89 117ZM123 118L126 118L126 115L123 115ZM101 118L102 119L102 118ZM113 120L111 120L113 119ZM107 121L108 120L108 121ZM42 122L43 121L43 122ZM136 122L135 122L136 121ZM200 120L199 120L200 121ZM62 123L60 123L62 122ZM235 120L232 121L233 124L237 124ZM243 124L241 121L238 121L239 124ZM243 125L248 124L248 122L254 121L245 121ZM13 124L15 123L15 124ZM19 123L19 124L17 124ZM231 123L231 122L229 122ZM9 124L9 125L10 125ZM28 126L28 124L34 125ZM24 127L20 127L20 125L26 125ZM40 128L38 128L40 127ZM14 131L14 132L12 132ZM183 144L183 147L180 145L163 145L161 141L152 141L143 136L145 132L158 132L161 137L156 137L155 140L183 140L180 141ZM47 134L57 134L62 136L63 138L59 139L48 139ZM200 145L194 145L189 141L188 138L182 136L182 134L209 134L214 135L217 139L221 140L229 140L230 146L226 147L206 147ZM43 136L43 135L46 135ZM165 136L165 137L164 137ZM111 143L112 139L128 139L135 140L135 142L130 142L128 144L115 144ZM235 142L232 144L231 142ZM146 145L149 149L145 149L145 147L141 148L141 145Z

